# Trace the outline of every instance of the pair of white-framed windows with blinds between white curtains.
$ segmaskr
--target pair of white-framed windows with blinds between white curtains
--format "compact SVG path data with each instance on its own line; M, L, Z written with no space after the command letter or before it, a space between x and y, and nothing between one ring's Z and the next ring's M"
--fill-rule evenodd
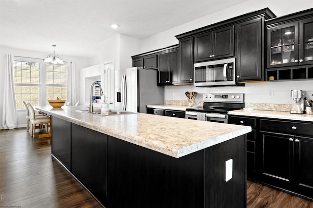
M15 57L14 89L17 109L22 101L32 105L48 105L48 99L67 99L66 64L46 64L41 59Z

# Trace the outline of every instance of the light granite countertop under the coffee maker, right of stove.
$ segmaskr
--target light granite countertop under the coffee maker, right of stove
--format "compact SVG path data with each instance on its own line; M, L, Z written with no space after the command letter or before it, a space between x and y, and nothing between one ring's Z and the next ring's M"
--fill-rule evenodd
M287 111L236 110L228 114L313 122L313 114L292 114Z

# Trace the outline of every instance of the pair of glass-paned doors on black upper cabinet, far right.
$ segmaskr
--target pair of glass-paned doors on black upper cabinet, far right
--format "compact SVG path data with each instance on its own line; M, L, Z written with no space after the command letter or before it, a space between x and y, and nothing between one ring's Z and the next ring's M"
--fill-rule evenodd
M268 68L313 63L313 18L268 28Z

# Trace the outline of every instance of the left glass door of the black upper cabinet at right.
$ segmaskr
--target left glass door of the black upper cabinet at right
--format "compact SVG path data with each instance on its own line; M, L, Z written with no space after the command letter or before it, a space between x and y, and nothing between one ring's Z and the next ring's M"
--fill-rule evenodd
M298 26L289 24L268 31L270 42L269 67L298 62Z

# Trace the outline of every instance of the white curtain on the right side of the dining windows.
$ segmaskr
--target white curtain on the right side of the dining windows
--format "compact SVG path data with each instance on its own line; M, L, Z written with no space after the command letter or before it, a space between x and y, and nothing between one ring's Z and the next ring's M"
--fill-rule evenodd
M75 62L69 62L67 75L67 101L70 105L76 103Z

